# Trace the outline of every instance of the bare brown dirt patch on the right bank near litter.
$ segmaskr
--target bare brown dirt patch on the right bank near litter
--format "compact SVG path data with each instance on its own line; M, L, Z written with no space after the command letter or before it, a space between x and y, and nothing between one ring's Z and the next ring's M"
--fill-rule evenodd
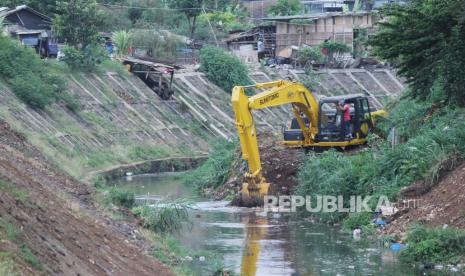
M430 191L410 197L413 198L417 207L401 212L389 225L388 232L405 232L414 221L465 229L465 162L448 172Z

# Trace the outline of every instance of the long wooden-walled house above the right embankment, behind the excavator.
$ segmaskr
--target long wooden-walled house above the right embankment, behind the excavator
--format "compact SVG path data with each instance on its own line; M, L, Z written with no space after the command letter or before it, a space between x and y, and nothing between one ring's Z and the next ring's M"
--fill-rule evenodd
M276 16L263 20L276 24L276 53L292 46L317 46L326 40L345 43L353 48L359 30L371 32L375 23L371 12Z

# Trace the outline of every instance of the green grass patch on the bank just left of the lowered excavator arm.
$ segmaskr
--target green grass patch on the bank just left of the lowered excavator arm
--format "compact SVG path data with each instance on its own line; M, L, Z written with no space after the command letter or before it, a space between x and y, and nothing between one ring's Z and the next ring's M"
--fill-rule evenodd
M183 175L182 182L199 191L216 189L223 185L229 177L229 170L237 158L236 143L226 140L214 142L207 160L202 166Z

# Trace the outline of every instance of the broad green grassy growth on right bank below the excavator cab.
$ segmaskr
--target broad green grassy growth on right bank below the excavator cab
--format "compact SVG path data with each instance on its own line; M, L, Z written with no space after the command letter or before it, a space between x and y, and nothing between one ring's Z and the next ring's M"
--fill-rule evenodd
M434 113L433 113L434 112ZM380 124L408 139L392 148L387 140L372 137L370 148L355 155L327 151L304 162L299 173L297 193L302 195L373 195L376 205L380 195L396 199L400 188L415 180L436 181L444 161L465 157L465 111L444 106L434 109L433 102L419 102L409 96L390 110L390 122ZM342 213L322 214L338 221Z

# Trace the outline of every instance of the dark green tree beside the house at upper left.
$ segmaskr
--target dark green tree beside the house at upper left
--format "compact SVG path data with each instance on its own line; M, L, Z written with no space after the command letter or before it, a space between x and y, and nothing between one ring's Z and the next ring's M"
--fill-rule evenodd
M57 33L68 44L84 48L96 42L102 17L95 0L60 1L57 12L54 21Z

